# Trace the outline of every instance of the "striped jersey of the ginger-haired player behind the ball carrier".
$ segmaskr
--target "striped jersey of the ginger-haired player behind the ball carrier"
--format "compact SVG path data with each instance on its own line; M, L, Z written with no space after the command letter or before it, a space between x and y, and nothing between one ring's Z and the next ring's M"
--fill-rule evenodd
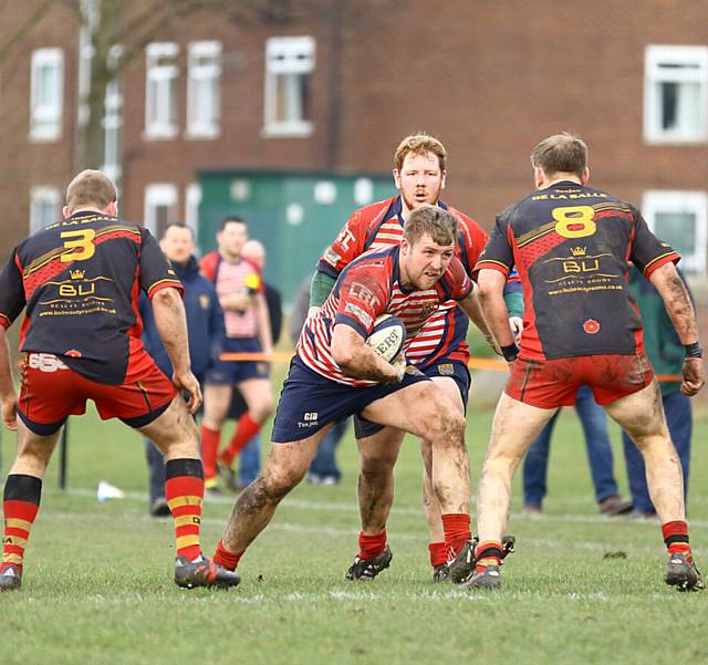
M455 256L461 261L467 273L471 273L488 236L472 219L447 206L438 204L459 219L459 233ZM334 242L320 259L317 270L336 279L354 259L372 249L397 246L403 239L404 220L402 199L395 196L371 204L350 217ZM406 352L409 363L425 367L442 355L467 362L467 329L469 320L454 300L440 304L415 340L410 339Z

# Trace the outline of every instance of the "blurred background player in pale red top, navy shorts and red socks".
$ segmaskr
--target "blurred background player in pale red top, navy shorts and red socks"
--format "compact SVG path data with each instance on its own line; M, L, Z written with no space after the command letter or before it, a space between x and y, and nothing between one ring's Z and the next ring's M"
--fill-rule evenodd
M248 226L240 217L227 217L217 231L218 250L199 261L201 273L217 290L223 309L226 340L230 353L271 353L270 316L258 267L242 256ZM221 427L233 388L241 392L248 411L239 417L228 447L219 455ZM231 468L241 449L260 430L273 409L269 364L264 361L220 361L205 378L205 405L201 423L201 450L206 488L218 490L219 463Z

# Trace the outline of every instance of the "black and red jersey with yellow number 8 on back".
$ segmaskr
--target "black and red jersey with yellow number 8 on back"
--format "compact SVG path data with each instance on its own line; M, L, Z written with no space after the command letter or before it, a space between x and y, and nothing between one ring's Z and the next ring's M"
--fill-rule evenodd
M561 181L497 217L476 270L517 268L525 304L520 355L543 360L643 351L627 261L648 278L678 260L635 208Z

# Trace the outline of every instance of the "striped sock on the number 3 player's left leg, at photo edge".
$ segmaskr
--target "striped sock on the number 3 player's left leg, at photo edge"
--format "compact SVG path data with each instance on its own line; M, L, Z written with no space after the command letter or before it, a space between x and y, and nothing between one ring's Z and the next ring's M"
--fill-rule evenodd
M0 573L13 565L22 574L24 545L30 538L30 529L40 509L42 480L34 476L11 474L4 484L2 512L4 533L2 536L2 562Z

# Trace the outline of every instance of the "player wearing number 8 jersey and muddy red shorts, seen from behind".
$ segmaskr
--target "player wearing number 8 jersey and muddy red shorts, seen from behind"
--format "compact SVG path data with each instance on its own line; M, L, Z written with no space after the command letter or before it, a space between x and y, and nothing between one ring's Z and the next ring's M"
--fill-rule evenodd
M686 349L680 389L695 395L704 385L702 351L675 266L679 257L635 208L587 186L587 147L580 138L545 138L531 163L537 191L497 217L477 264L482 306L510 376L479 481L477 564L464 585L499 586L513 472L558 407L572 405L579 386L587 385L644 458L668 550L666 583L681 591L702 589L688 540L681 467L627 284L631 260L664 300ZM527 302L520 351L501 297L514 266Z

